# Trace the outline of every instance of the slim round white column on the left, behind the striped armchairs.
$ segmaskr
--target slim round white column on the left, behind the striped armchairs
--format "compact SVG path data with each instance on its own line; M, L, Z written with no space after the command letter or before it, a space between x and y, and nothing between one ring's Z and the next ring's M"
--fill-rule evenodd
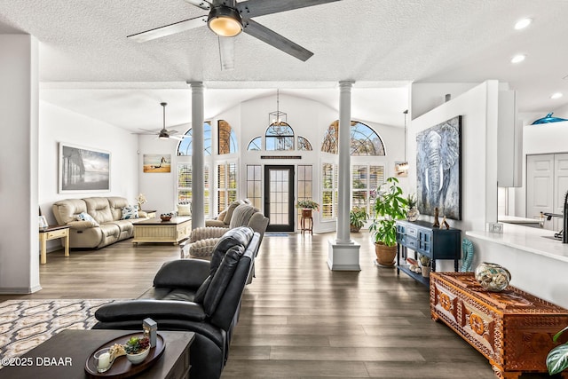
M203 83L190 82L192 87L192 229L205 226L205 186L203 154Z

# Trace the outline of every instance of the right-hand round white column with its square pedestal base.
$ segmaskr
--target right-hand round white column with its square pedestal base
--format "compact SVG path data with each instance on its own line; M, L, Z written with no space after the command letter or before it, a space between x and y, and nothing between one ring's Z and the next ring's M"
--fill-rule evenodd
M351 241L349 204L351 201L351 88L353 81L339 82L339 184L337 238L329 240L327 265L333 271L360 271L359 244Z

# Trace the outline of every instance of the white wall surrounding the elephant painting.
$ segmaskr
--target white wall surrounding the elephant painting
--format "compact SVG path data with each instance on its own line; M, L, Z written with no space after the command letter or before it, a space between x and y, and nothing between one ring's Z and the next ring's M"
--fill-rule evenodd
M416 156L416 134L461 115L461 221L448 223L462 232L485 230L497 219L497 96L496 81L478 84L426 114L412 120L408 132L409 156ZM416 192L416 164L410 162L408 177ZM432 221L431 216L421 216ZM463 234L463 233L462 233ZM463 235L462 235L463 237ZM453 262L440 261L440 271L453 271Z

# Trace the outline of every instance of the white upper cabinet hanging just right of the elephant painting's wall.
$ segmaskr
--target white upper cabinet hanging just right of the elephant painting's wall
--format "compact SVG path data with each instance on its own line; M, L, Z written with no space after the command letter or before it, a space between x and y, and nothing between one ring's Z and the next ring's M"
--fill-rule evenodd
M517 120L517 93L499 91L497 183L523 186L523 124Z

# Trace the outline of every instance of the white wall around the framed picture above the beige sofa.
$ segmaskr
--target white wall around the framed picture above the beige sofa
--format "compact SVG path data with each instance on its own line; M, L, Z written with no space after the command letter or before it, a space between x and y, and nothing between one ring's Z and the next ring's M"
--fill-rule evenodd
M132 203L138 195L138 137L130 131L83 114L39 102L39 205L49 224L57 224L55 201L93 196L123 196ZM59 142L110 152L110 192L58 193ZM60 240L48 241L48 250ZM49 258L48 258L49 259Z

